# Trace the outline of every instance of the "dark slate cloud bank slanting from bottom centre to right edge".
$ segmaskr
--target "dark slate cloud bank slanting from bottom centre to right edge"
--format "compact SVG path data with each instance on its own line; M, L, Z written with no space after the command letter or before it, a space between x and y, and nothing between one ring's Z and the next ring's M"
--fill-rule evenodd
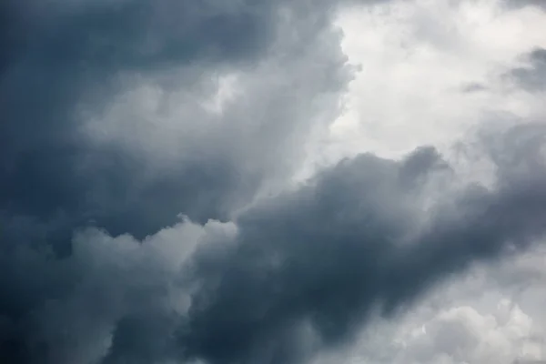
M393 314L475 259L526 247L545 232L546 175L543 163L531 169L539 156L520 149L504 155L513 151L511 160L530 169L509 178L514 166L502 164L494 190L443 197L419 233L416 216L426 213L414 195L423 181L407 181L443 164L430 149L401 163L357 157L248 212L237 248L201 261L203 286L181 344L211 363L298 362L304 353L286 344L298 325L310 322L322 345L343 343L376 306Z

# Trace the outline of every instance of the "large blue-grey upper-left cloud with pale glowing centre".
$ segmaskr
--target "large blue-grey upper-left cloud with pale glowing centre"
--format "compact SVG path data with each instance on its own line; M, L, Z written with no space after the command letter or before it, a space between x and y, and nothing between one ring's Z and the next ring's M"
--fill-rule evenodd
M349 82L326 6L3 6L0 208L34 229L142 238L178 213L226 218L297 165L296 136L335 117Z

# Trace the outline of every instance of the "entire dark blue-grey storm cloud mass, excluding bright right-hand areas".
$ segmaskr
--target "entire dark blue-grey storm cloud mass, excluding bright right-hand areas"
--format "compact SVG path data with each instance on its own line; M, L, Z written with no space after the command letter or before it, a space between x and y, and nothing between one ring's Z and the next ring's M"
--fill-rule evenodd
M342 112L355 4L0 5L1 362L306 363L539 244L541 125L486 130L487 187L434 147L291 183ZM542 58L512 76L540 91ZM434 345L460 322L490 329L453 308Z

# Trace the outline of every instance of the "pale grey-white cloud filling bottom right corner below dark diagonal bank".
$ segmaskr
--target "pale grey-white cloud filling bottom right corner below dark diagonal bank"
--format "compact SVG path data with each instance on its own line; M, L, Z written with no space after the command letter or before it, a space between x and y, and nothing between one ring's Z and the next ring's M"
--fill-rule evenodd
M546 360L546 249L475 266L315 364L512 364ZM516 361L519 360L519 361Z

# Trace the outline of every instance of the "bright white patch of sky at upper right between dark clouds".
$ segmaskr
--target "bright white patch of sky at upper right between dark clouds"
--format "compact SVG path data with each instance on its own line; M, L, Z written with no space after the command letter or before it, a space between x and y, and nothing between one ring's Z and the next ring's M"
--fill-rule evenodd
M397 157L422 145L442 150L483 123L545 114L541 97L502 77L521 66L522 54L546 46L546 13L536 7L395 1L347 9L337 25L359 72L324 141L326 160L363 151Z

